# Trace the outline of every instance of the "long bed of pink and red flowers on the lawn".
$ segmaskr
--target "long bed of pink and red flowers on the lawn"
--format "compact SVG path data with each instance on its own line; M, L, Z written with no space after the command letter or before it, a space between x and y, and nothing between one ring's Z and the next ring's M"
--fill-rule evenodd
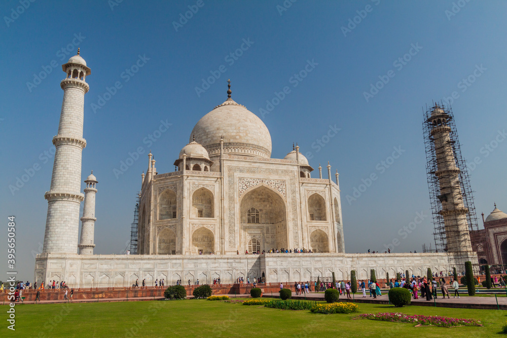
M475 319L450 318L442 316L406 315L403 313L367 313L359 315L359 318L382 320L387 322L415 323L424 326L482 326L481 322Z

